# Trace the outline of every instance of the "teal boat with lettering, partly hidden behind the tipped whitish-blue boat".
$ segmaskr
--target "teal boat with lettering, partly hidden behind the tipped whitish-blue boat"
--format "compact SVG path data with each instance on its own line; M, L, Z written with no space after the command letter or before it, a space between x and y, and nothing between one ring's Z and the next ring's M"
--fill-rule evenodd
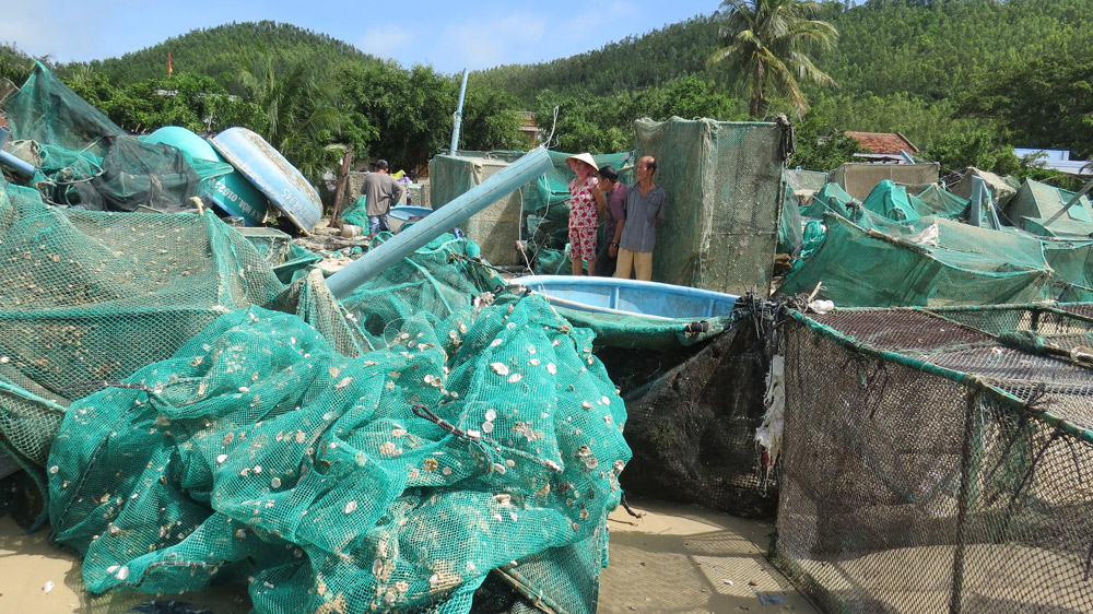
M145 142L172 145L193 158L227 163L208 141L179 126L164 126L149 134ZM208 197L228 215L243 217L248 226L260 226L266 221L269 201L238 170L218 177Z

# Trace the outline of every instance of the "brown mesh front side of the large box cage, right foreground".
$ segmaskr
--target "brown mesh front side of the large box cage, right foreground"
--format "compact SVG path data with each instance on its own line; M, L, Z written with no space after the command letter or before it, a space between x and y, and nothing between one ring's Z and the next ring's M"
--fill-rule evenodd
M1086 612L1093 445L1015 403L786 332L776 560L827 612Z

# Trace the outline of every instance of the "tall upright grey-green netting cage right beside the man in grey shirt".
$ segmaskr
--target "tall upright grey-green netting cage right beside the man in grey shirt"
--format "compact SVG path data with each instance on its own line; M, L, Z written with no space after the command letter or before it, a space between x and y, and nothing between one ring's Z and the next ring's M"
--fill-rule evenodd
M785 198L775 123L638 120L637 155L658 161L667 194L654 280L765 294Z

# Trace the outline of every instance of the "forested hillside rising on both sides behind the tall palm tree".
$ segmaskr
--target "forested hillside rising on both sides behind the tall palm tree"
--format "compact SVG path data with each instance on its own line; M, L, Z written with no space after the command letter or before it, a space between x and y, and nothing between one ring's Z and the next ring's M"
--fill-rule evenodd
M710 13L717 9L710 2ZM836 49L816 64L850 95L907 93L940 99L1035 57L1090 47L1093 0L868 0L825 2L820 19L838 29ZM596 95L662 85L682 75L716 79L713 14L626 37L601 49L475 76L531 102L543 90Z

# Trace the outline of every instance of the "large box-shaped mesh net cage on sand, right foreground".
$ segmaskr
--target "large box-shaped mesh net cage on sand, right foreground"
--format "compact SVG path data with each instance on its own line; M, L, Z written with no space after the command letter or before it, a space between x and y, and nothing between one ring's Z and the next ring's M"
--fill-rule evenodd
M1093 306L788 311L771 558L824 612L1093 610Z

